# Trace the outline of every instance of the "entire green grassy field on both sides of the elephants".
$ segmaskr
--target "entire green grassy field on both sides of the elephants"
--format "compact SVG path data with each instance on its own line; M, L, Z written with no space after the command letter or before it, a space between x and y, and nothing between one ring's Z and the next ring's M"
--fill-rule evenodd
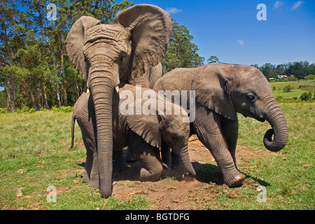
M204 202L201 209L315 209L315 103L280 106L288 122L287 146L276 155L241 158L239 169L250 185L218 188L214 202L196 192ZM0 209L150 209L144 195L104 200L81 182L85 148L78 125L76 145L69 148L70 121L71 113L62 112L0 114ZM262 137L267 128L267 123L239 116L238 145L266 151ZM216 167L216 162L209 165ZM258 203L255 187L248 188L259 185L266 187L266 202ZM55 187L57 202L47 201L48 186ZM238 197L227 196L236 191Z

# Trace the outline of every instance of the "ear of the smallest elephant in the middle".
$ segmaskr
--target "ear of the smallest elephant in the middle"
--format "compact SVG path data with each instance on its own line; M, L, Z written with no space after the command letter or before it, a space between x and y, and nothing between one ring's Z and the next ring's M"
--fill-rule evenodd
M136 100L136 105L143 105L146 100L151 99L139 99ZM151 104L153 105L153 104ZM136 107L136 106L135 106ZM141 107L140 107L141 108ZM136 108L134 108L136 109ZM134 113L136 110L134 110ZM144 141L153 147L160 148L162 144L162 137L160 132L160 124L157 115L127 115L128 127L139 136L141 136Z

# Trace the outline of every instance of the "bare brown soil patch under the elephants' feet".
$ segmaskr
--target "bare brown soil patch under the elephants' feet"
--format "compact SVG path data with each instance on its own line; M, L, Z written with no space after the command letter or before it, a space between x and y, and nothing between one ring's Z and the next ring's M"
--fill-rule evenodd
M197 172L196 179L183 177L180 169L172 169L172 172L160 181L141 182L139 181L141 165L134 162L127 164L122 171L113 173L113 197L125 200L141 194L152 203L151 209L193 210L215 204L219 193L224 193L230 198L239 196L238 188L233 188L232 192L228 191L229 188L223 183L214 158L198 139L190 139L189 154ZM273 154L276 155L269 151L237 146L237 164L246 163L246 158ZM243 183L243 186L253 189L258 185L252 179L246 179Z

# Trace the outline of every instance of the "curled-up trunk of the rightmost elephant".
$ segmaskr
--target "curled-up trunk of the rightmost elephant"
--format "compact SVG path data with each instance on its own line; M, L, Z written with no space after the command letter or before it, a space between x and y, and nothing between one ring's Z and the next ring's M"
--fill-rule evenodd
M266 120L272 126L272 129L266 132L264 136L264 145L269 151L278 152L286 146L286 142L288 141L286 119L275 100L269 103L267 108L268 112L266 114ZM272 135L274 135L273 140Z

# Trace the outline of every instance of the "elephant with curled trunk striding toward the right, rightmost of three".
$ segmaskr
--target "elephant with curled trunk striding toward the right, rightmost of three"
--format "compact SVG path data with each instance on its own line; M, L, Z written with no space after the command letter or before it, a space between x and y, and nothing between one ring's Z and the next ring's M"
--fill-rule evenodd
M272 129L263 139L269 151L280 151L286 146L286 119L267 79L253 66L211 63L197 68L174 69L162 76L153 89L195 91L195 99L187 98L195 100L195 119L190 120L190 132L197 134L214 156L229 187L239 186L245 179L237 169L235 158L237 113L269 122Z

